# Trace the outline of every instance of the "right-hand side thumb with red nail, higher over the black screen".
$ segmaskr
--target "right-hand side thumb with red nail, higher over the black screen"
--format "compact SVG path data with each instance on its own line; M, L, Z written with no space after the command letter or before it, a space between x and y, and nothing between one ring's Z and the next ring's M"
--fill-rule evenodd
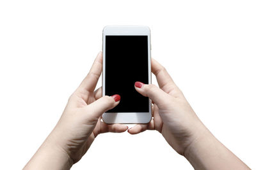
M156 85L147 85L141 83L140 81L136 81L134 85L137 92L145 97L149 97L152 101L154 101L154 103L157 104L159 108L168 104L167 102L169 101L170 96L162 89L159 89L159 87L156 87Z

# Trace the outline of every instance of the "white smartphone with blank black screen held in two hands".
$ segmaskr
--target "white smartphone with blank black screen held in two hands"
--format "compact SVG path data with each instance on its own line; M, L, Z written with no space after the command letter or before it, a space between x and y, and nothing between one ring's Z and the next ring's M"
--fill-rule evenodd
M151 83L150 29L147 26L106 26L103 29L102 96L119 94L120 103L103 113L107 124L147 124L151 101L134 83Z

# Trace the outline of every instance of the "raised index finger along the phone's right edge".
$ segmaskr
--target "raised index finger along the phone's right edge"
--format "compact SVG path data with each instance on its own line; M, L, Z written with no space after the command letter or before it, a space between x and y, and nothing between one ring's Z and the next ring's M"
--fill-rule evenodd
M173 89L176 86L170 74L168 74L166 69L155 59L151 59L151 70L152 73L156 75L160 89L163 89L164 92L169 93L170 89Z

